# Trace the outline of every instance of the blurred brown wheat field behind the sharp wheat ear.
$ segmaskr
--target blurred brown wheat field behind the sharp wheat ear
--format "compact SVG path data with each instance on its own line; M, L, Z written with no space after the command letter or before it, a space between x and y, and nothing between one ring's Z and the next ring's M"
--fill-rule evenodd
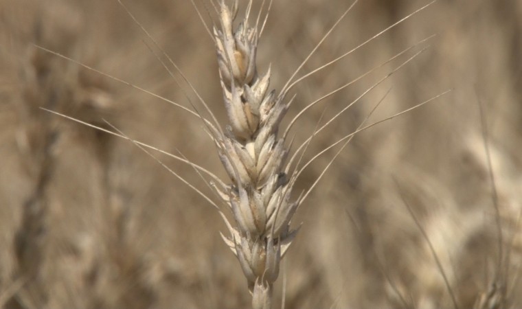
M209 117L202 98L226 126L203 23L212 32L218 1L123 3L0 0L0 308L249 308L201 194L132 141L49 112L227 179L201 119L161 99ZM353 3L273 1L256 60L271 89ZM341 145L303 170L296 197L324 175L291 221L273 308L522 307L522 1L438 0L409 16L428 3L358 1L299 71L354 50L288 94L282 128L355 80L293 126L291 149L313 137L302 164L366 118L442 95L357 133L326 172ZM193 165L148 151L216 199Z

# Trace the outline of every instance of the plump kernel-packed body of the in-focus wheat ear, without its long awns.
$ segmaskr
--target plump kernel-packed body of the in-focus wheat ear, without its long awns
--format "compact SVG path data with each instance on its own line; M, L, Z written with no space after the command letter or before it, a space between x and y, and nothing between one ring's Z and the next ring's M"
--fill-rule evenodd
M214 27L223 99L230 125L213 131L218 155L231 184L215 189L230 207L236 226L223 237L238 258L252 294L253 308L271 308L280 260L297 230L290 221L299 201L291 201L293 182L284 168L284 137L277 131L288 104L269 91L270 69L258 74L256 49L260 32L248 16L234 27L238 1L220 1L220 27Z

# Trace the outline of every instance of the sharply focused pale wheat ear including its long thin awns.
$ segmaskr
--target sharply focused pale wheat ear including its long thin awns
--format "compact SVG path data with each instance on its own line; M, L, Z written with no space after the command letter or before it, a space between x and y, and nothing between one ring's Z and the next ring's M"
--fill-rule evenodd
M324 175L326 169L330 167L332 161L337 157L337 155L339 155L346 144L348 144L351 138L362 130L370 128L380 122L386 121L387 119L396 117L397 115L401 115L402 113L407 113L411 111L411 109L417 108L418 106L426 104L427 102L431 102L435 98L438 98L440 95L444 94L442 93L437 95L434 98L418 104L417 106L408 108L406 111L391 117L387 117L374 124L370 124L364 127L361 124L358 130L356 130L354 133L346 135L343 137L343 139L319 152L319 154L313 157L313 159L305 163L302 168L297 168L297 165L299 165L299 162L302 159L302 153L315 134L319 133L319 131L323 130L326 126L332 123L334 119L337 119L337 117L341 115L341 113L350 108L350 106L352 106L352 104L355 102L358 102L361 98L363 98L363 96L378 86L378 84L381 84L383 80L389 78L392 73L405 66L409 61L420 54L420 52L418 52L403 62L400 66L396 67L396 69L390 71L384 78L375 84L372 84L372 86L364 91L356 100L345 106L339 113L334 115L334 117L330 118L328 122L324 124L324 126L316 128L313 135L306 139L306 141L304 141L304 143L299 146L299 148L297 148L291 159L286 161L286 156L289 152L288 146L286 146L286 144L288 144L286 142L286 137L291 126L295 124L297 119L299 119L299 117L303 115L303 113L307 111L308 108L314 106L325 98L328 98L333 93L337 93L341 89L348 87L355 80L348 82L347 84L339 87L338 89L335 89L327 95L324 95L319 100L310 103L301 113L291 120L291 123L288 125L286 130L284 130L284 133L281 136L278 136L282 119L284 118L284 115L286 114L286 111L292 102L292 100L285 100L288 91L290 91L297 83L301 82L308 76L313 75L313 73L316 73L325 67L333 65L341 58L348 56L356 49L359 49L361 46L374 40L374 38L381 36L381 34L387 32L387 30L389 30L391 27L398 25L398 23L401 23L405 19L409 18L409 16L416 14L416 12L426 8L429 5L425 5L419 10L416 10L416 12L409 14L400 21L387 27L385 30L372 36L361 45L358 45L354 49L350 50L350 52L347 52L339 58L326 63L326 65L322 65L321 67L310 71L310 73L306 73L304 76L294 80L298 71L304 66L304 63L317 50L317 47L326 39L326 36L330 34L335 26L337 26L339 21L341 21L341 19L343 19L343 17L350 11L355 2L350 6L350 8L348 8L348 10L345 11L339 20L334 23L332 28L326 32L325 36L316 45L315 49L310 52L310 55L293 73L291 78L283 87L281 93L277 95L274 90L269 90L271 78L270 69L268 69L266 73L259 73L256 67L256 50L258 47L260 33L262 32L264 24L260 26L260 17L258 16L258 20L256 21L255 25L249 25L249 15L251 12L252 1L249 1L248 3L245 18L240 21L237 26L234 25L234 21L238 14L238 1L234 1L234 4L231 5L231 7L226 5L225 1L220 1L217 8L219 24L218 27L214 27L212 36L218 53L220 84L222 87L225 108L227 110L229 120L229 126L226 126L224 130L216 120L216 117L214 117L212 114L212 111L210 111L209 106L203 101L201 96L198 95L194 87L192 87L192 84L190 84L185 76L183 76L183 73L181 70L179 70L177 65L175 65L174 62L168 58L165 53L163 54L166 56L166 58L168 58L168 60L170 60L172 66L174 66L181 76L183 76L185 82L188 82L192 88L192 91L196 93L198 99L201 100L201 103L205 106L206 110L212 115L212 121L205 119L196 110L194 105L192 105L192 107L195 111L192 111L189 108L185 108L184 106L181 106L166 98L162 98L154 93L150 93L149 91L134 86L133 84L124 82L123 80L119 80L117 78L113 78L108 74L97 71L91 67L87 67L86 65L71 60L70 58L67 58L56 52L51 52L48 49L39 47L46 50L47 52L51 52L52 54L56 54L57 56L76 62L78 65L81 65L82 67L85 67L89 70L101 73L102 75L112 78L118 82L123 82L124 84L143 91L148 95L161 98L161 100L165 100L166 102L169 102L170 104L173 104L174 106L183 109L183 111L187 111L191 115L194 115L202 120L203 124L207 128L207 132L209 135L211 135L212 140L216 145L218 155L225 167L225 170L227 171L229 180L221 181L214 174L212 174L212 172L208 172L201 166L192 163L185 157L179 157L170 154L168 155L178 159L179 161L182 161L183 163L191 165L196 170L196 172L203 172L203 174L210 176L213 179L212 187L216 191L217 195L221 198L223 203L225 203L227 208L231 211L234 222L236 223L235 225L231 225L229 219L227 219L223 212L219 210L220 216L223 218L223 220L225 220L225 224L227 225L227 229L230 233L229 237L223 236L223 234L222 237L223 240L225 240L225 243L230 247L231 251L238 258L242 271L247 278L248 288L252 295L253 308L271 308L273 284L279 275L280 261L284 257L288 247L290 247L291 242L295 238L298 231L298 229L292 230L290 227L293 214L299 205L304 201L306 196L308 196L313 187L315 187L319 179L321 179L321 177ZM132 14L131 17L134 19ZM139 23L137 24L139 25ZM143 27L141 27L141 29L144 30ZM149 38L152 39L146 30L144 30L144 32ZM425 40L427 39L424 39L419 43L422 43ZM152 41L154 40L152 39ZM155 43L155 45L157 45L157 43ZM157 45L157 47L159 46ZM411 49L411 47L408 47L396 56L390 58L387 60L387 62L402 55L409 49ZM157 58L161 61L159 57ZM163 65L166 67L170 75L174 77L170 69L168 69L167 65ZM368 71L367 73L370 73L373 70L374 69ZM367 73L363 74L359 78L356 78L356 80L359 80ZM62 116L67 117L65 115ZM71 117L67 118L72 119ZM78 119L73 120L80 122ZM112 131L84 122L80 123L98 128L99 130L104 130L107 133L123 137L124 139L129 139L142 150L144 150L144 147L158 150L157 148L153 148L127 137L124 135L124 133L122 133L120 130L117 130L117 128L111 126L110 124L109 126L113 127L114 130L117 130L118 133L113 133ZM304 194L293 201L291 198L291 192L299 174L301 174L304 168L310 165L310 163L314 161L315 158L343 141L344 144L341 147L341 150L337 152L337 155L335 155L327 167L324 168L321 175L317 177L315 183L313 183L313 185L311 185L310 188L304 192ZM301 157L299 157L299 155L301 155ZM295 164L295 170L290 172L290 167L293 165L295 159L298 159L298 162ZM159 160L157 159L157 161ZM159 163L161 163L161 161L159 161ZM205 196L203 192L199 191L196 187L185 181L181 176L179 176L179 174L170 170L170 168L168 168L163 163L161 163L161 165L174 174L174 176L177 176L179 179L181 179L181 181L185 182L185 184L189 185L198 194L203 196L203 198L214 205L214 207L218 208L218 205L216 205L216 203L214 203L210 198Z

